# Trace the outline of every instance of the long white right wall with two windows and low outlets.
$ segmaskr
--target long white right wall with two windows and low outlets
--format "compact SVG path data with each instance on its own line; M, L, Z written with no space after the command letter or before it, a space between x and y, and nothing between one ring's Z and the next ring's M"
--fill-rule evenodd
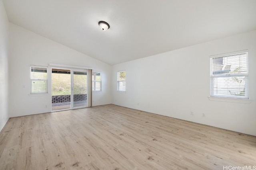
M209 56L244 49L250 104L210 101ZM118 70L126 70L126 93L116 91ZM256 135L256 31L116 64L112 85L113 104Z

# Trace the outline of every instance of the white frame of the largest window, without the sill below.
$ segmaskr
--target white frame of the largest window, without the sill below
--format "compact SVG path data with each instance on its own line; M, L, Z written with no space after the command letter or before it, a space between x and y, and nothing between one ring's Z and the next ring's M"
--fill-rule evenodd
M235 73L235 74L213 74L212 69L212 59L216 58L224 58L224 57L232 57L237 55L244 55L246 54L246 73ZM239 61L240 64L241 61ZM233 99L233 100L248 100L249 99L249 88L248 88L248 82L249 82L249 72L248 72L248 50L242 50L242 51L235 51L232 53L225 53L220 55L212 55L210 56L210 98L223 98L223 99ZM216 71L216 70L215 70ZM244 96L240 95L218 95L214 94L214 78L231 78L231 77L243 77L244 76Z

